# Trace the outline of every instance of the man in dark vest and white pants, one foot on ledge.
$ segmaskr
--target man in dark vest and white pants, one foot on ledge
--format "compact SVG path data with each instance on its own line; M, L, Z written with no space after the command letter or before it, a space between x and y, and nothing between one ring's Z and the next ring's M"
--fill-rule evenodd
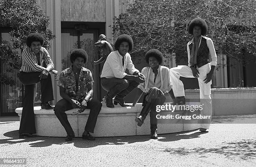
M189 23L189 34L193 39L187 43L188 66L178 65L170 69L170 78L176 102L179 105L185 103L184 85L179 77L198 78L200 88L200 101L203 104L202 115L212 115L211 84L212 75L217 65L217 55L213 42L205 37L207 24L201 18L195 18ZM175 98L174 97L174 98ZM205 132L210 127L211 119L201 120L200 131Z

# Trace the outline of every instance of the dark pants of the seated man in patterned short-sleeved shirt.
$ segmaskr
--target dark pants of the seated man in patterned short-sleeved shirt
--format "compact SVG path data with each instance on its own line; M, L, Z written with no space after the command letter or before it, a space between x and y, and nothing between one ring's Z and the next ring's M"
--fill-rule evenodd
M87 123L84 127L84 130L86 130L87 132L94 132L97 117L100 113L101 107L102 104L99 100L90 98L90 100L87 102L87 108L91 109ZM69 124L69 120L67 119L67 114L65 113L65 111L71 110L72 108L73 107L71 103L65 99L59 100L54 107L54 113L61 122L61 125L65 128L68 135L72 135L74 131L72 130L71 125Z

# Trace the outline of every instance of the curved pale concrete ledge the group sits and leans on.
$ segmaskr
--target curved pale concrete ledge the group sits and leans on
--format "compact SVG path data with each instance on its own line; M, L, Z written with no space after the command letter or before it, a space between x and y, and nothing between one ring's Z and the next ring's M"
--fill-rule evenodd
M136 107L120 107L108 108L105 104L102 105L102 109L97 119L95 126L95 137L113 137L113 136L132 136L132 135L150 135L150 117L146 117L144 124L138 127L134 121L137 115L141 112L141 103L138 103ZM72 109L67 111L67 117L72 126L75 136L82 137L84 127L89 116L89 109L79 113L75 116L73 112L78 109ZM16 113L21 118L22 108L17 108ZM34 107L36 132L39 136L54 136L65 137L66 131L62 127L61 123L57 119L53 110L44 110L41 107ZM195 112L188 111L161 111L161 115L192 115ZM189 130L195 130L199 128L199 120L184 120L184 119L168 119L163 123L159 121L158 134L184 132Z

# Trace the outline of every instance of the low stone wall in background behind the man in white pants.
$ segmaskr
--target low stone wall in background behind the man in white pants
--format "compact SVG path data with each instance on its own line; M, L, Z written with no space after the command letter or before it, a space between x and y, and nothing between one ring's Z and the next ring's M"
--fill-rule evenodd
M200 98L200 90L185 90L188 99ZM212 116L256 114L256 87L211 89Z

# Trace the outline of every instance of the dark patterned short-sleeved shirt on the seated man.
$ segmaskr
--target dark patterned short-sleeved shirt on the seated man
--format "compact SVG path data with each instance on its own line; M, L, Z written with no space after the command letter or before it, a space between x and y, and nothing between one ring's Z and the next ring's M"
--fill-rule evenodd
M87 95L87 85L94 83L92 72L87 68L82 67L79 73L78 87L72 66L63 70L59 75L58 86L64 87L67 95L74 100L83 100Z

